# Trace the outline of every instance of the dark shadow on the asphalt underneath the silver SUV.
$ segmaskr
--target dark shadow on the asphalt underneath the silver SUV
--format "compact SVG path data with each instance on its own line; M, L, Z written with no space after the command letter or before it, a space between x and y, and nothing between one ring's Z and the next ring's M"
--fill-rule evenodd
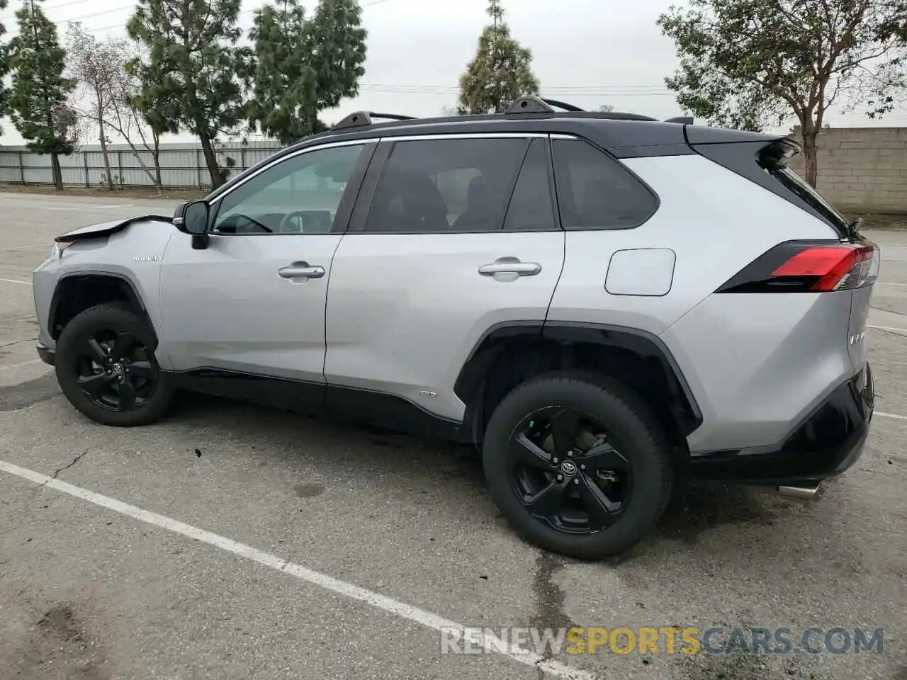
M441 501L450 503L445 510L472 506L475 511L473 503L478 500L483 511L503 524L485 491L481 457L470 446L194 394L180 395L172 418L198 425L217 423L253 438L267 432L270 445L260 447L256 456L297 451L299 432L305 429L310 445L301 455L314 463L329 462L336 474L368 474L398 489L443 485L447 493ZM294 491L307 497L323 488L299 482ZM678 481L655 536L693 545L702 534L722 526L772 527L791 503L765 500L765 491L745 486Z

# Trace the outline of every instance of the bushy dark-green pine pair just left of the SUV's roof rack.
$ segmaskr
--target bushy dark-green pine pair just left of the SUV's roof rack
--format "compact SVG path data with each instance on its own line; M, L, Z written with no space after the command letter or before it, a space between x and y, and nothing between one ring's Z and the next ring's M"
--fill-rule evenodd
M249 123L281 143L325 129L318 112L355 96L365 73L366 30L356 0L321 0L307 19L298 0L256 13Z

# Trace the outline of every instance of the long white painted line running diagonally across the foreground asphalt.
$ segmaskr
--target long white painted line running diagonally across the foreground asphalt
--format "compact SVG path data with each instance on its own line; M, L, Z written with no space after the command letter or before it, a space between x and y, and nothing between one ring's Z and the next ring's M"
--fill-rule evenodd
M61 491L75 498L82 500L87 500L90 503L99 505L102 508L108 510L113 510L114 512L119 512L122 515L127 517L132 517L133 520L139 520L145 522L146 524L151 524L155 527L160 527L161 529L167 529L175 534L180 534L180 536L185 536L189 539L195 539L202 543L207 543L214 548L224 550L226 552L232 553L240 558L250 559L253 562L258 562L258 564L263 565L268 568L272 568L275 571L279 571L285 574L288 574L292 577L298 578L303 581L307 581L315 586L320 588L325 588L330 590L338 595L343 595L345 597L350 597L356 599L360 602L366 603L366 605L371 605L377 609L381 609L390 614L395 614L398 617L402 617L413 621L421 626L427 628L433 628L437 632L441 633L442 631L449 631L453 634L454 631L459 631L460 639L463 640L466 636L466 631L461 624L451 621L444 617L440 617L437 614L433 614L424 609L418 607L413 607L412 605L407 605L404 602L395 600L393 597L387 597L379 593L375 593L371 590L366 590L366 588L359 588L358 586L352 583L346 583L346 581L341 581L337 578L332 578L326 574L321 574L312 569L303 567L300 564L295 564L290 562L288 559L278 558L277 555L272 555L271 553L264 552L263 550L258 550L252 548L243 543L239 543L235 540L219 536L218 534L211 533L205 529L199 529L198 527L193 527L190 524L185 524L179 520L172 520L169 517L159 515L156 512L150 512L149 510L142 510L137 508L134 505L122 502L122 500L112 499L108 496L102 496L100 493L95 493L94 491L88 491L82 487L74 486L65 481L55 480L52 477L41 474L40 472L35 472L33 470L27 470L25 468L20 468L18 465L13 463L0 461L0 471L8 472L9 474L15 475L16 477L21 477L24 480L34 481L35 484L40 484L45 487L54 489L55 491ZM440 639L439 639L440 645ZM475 641L476 643L478 641ZM552 659L546 659L540 654L536 654L525 648L511 648L511 649L502 649L500 642L496 641L493 638L483 639L482 641L483 649L493 649L498 654L506 656L513 661L517 661L523 665L531 666L532 668L537 668L545 673L550 673L551 675L556 675L558 677L565 678L565 680L597 680L596 675L592 675L586 671L580 671L576 668L573 668L570 665L561 664L559 661L554 661Z

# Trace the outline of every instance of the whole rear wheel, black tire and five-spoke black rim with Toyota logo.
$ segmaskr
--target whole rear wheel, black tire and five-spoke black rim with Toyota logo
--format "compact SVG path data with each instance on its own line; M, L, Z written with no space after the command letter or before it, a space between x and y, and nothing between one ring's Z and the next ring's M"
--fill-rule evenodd
M658 421L635 393L600 376L554 374L516 387L488 423L483 462L517 533L577 559L639 542L673 483Z

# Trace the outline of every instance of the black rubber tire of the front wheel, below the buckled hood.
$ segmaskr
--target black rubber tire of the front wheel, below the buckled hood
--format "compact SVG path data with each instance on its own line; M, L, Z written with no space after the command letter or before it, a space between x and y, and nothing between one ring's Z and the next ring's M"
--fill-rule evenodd
M129 375L114 372L112 369L102 369L102 372L98 372L97 367L103 362L94 359L97 351L90 348L99 345L96 339L99 337L123 338L123 352L118 352L116 357L108 359L108 363L115 362L121 369L125 366L125 374ZM116 350L115 340L110 342L110 349ZM128 350L125 349L127 345ZM103 342L99 346L105 348ZM156 423L169 410L173 402L174 389L171 377L161 372L161 367L154 358L154 346L154 334L148 321L132 312L129 307L117 303L90 307L73 317L63 328L63 333L57 341L54 359L57 383L69 402L95 423L118 427ZM125 356L124 353L129 353L132 358L122 363L116 361L120 354ZM134 358L136 356L140 359ZM80 380L87 378L104 381L102 396L93 398L83 389ZM116 400L120 400L121 408L124 400L119 392L124 380L131 381L132 403L125 410L117 410Z

